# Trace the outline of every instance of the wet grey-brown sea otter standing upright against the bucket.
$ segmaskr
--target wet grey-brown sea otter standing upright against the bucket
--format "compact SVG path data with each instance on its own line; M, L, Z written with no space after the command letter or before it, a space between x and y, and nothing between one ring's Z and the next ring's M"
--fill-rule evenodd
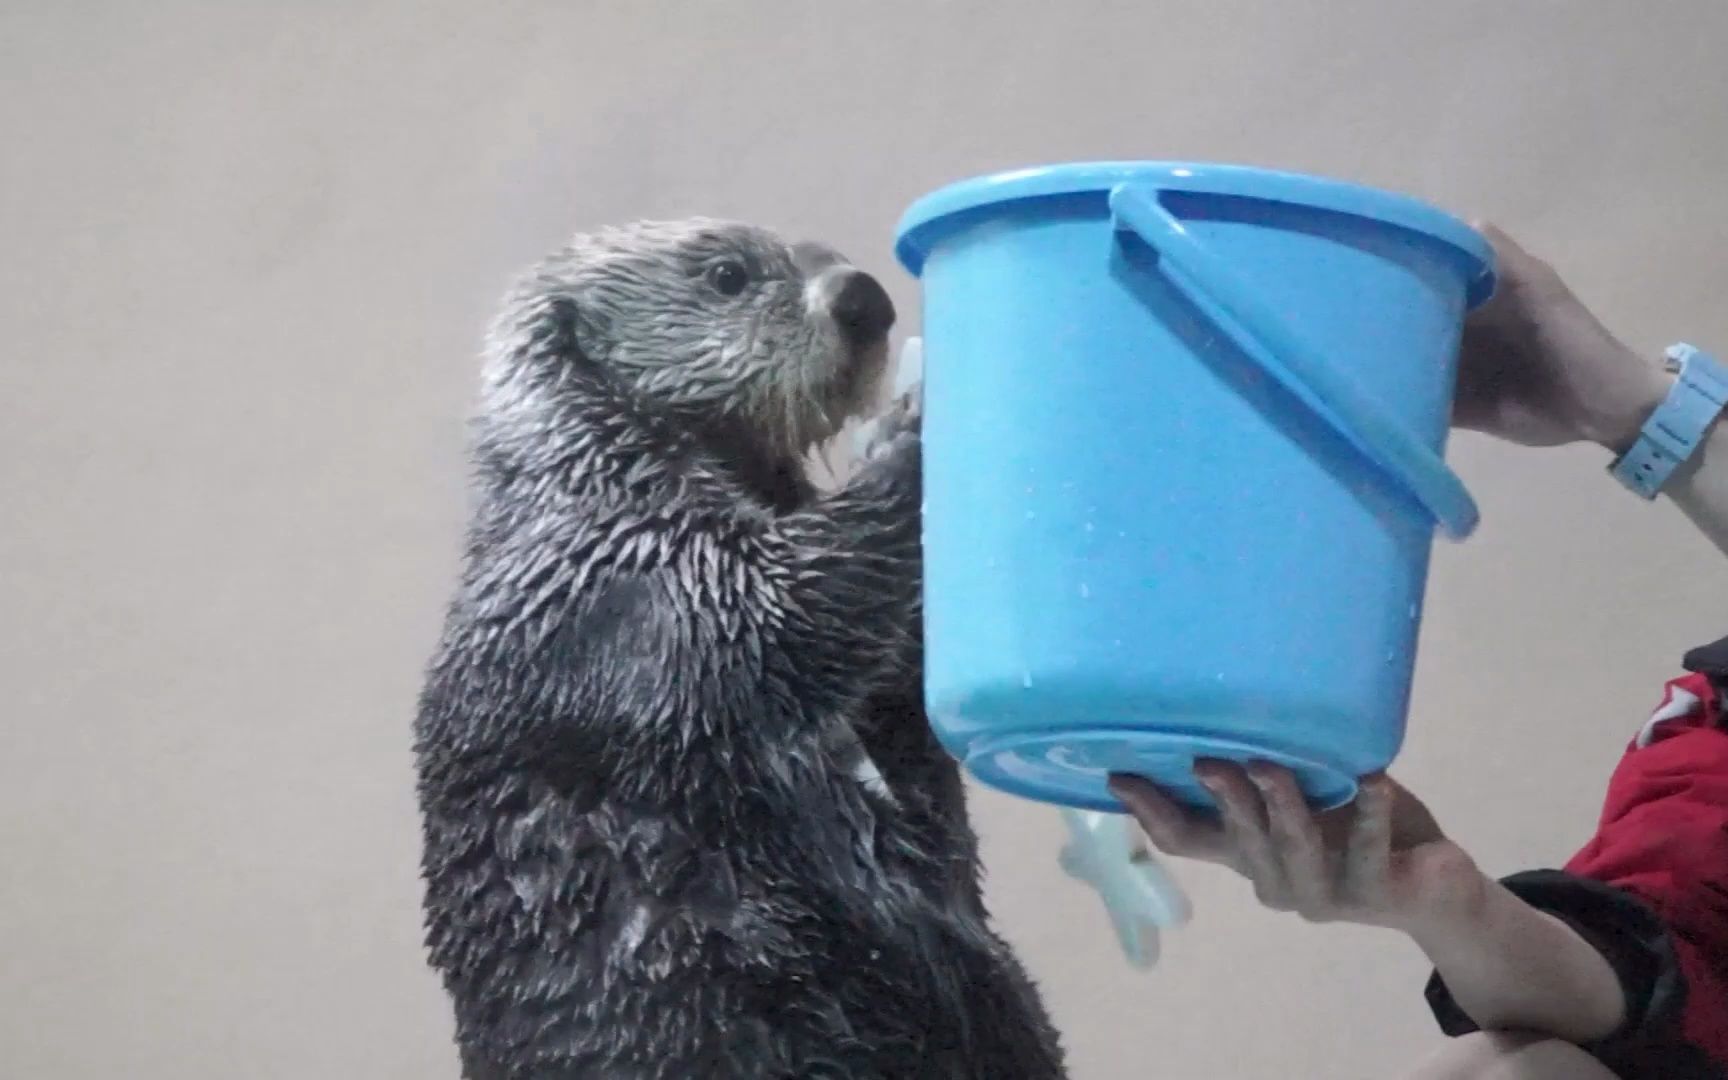
M581 237L510 294L415 726L470 1080L1063 1075L919 703L918 410L838 492L804 477L880 382L881 304L715 221Z

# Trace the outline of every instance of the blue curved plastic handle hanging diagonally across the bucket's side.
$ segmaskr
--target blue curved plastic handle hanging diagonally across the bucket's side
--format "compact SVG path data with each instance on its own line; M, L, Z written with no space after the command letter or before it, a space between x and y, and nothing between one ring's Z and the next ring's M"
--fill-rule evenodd
M1239 346L1248 346L1242 351L1267 375L1401 484L1446 536L1464 539L1474 532L1479 513L1464 480L1244 287L1218 256L1206 251L1165 209L1163 194L1163 188L1144 183L1113 187L1109 213L1116 232L1132 232L1144 240L1159 263L1177 271L1168 275L1172 285L1203 309L1222 313L1225 330Z

